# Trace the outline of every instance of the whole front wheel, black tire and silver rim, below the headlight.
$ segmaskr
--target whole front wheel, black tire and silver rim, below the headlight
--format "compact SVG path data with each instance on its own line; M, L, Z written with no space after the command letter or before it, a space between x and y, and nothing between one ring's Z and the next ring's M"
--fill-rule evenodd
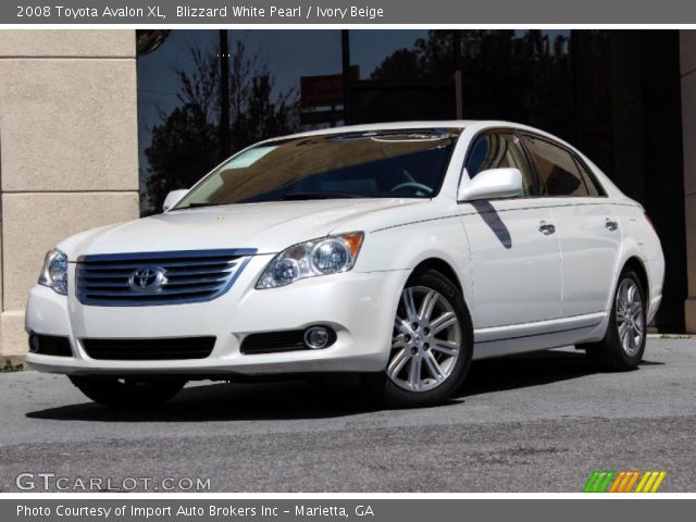
M371 375L387 407L442 403L463 383L473 352L471 318L459 289L437 271L407 283L397 309L385 371Z

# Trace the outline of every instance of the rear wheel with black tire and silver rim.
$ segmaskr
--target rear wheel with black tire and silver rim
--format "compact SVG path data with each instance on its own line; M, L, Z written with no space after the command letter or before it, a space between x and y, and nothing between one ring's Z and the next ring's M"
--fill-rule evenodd
M605 338L584 348L598 370L625 372L635 370L643 360L645 340L645 293L641 278L627 269L614 290Z

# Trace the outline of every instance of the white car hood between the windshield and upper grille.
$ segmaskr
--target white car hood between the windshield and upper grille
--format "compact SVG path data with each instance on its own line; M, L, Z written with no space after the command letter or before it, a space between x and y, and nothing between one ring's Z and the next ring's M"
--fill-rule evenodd
M251 248L276 253L331 233L409 221L401 209L431 200L351 199L274 201L171 211L77 234L61 243L71 261L91 253ZM366 229L365 232L369 232Z

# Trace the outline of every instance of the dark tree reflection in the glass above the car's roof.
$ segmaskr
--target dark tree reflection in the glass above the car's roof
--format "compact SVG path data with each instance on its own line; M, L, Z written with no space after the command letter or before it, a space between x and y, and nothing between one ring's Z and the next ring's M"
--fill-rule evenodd
M410 49L388 55L371 79L451 78L462 71L468 119L527 123L561 137L573 136L570 36L542 30L461 30L456 55L452 32L431 30Z

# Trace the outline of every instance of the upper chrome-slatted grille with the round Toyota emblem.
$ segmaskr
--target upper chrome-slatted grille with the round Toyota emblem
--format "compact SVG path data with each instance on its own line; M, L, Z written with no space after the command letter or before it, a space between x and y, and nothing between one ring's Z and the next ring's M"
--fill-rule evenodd
M141 307L210 301L229 289L256 250L186 250L85 256L77 261L83 304Z

